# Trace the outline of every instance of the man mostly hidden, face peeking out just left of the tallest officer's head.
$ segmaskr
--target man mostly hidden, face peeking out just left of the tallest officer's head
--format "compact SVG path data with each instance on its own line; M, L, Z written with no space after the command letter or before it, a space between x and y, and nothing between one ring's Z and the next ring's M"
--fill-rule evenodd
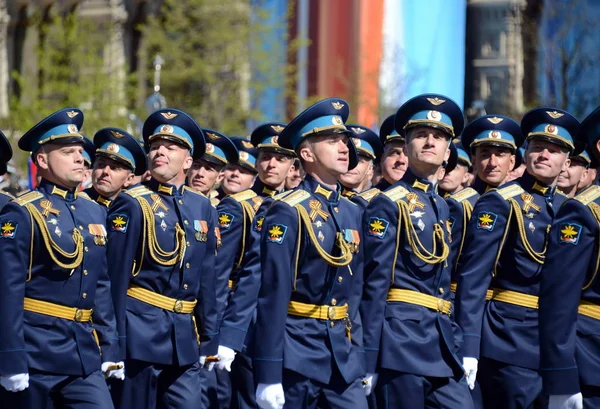
M375 187L381 191L402 179L408 168L408 157L404 152L404 135L394 128L394 115L388 116L379 128L383 143L380 169L381 180Z

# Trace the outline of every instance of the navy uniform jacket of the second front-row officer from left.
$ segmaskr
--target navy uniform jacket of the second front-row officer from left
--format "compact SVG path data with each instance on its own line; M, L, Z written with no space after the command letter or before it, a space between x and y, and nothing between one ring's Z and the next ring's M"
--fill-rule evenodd
M150 206L154 218L154 223L147 226L142 203ZM215 354L218 327L214 271L218 228L216 210L209 200L187 186L177 188L153 179L148 185L119 194L110 207L107 224L109 272L121 359L126 356L184 366L197 361L199 355ZM166 253L174 251L176 226L184 233L180 246L185 245L183 259L165 265L162 261L166 258L157 257L161 260L157 262L149 249L150 243L157 242L157 247ZM148 233L150 229L154 237ZM130 286L198 303L193 315L178 314L128 297Z

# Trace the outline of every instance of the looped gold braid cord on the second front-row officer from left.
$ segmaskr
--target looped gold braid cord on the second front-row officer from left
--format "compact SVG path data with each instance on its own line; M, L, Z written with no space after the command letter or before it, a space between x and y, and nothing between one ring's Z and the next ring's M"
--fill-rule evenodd
M160 247L158 239L156 238L156 226L154 220L154 212L152 207L142 197L136 198L142 208L142 215L144 220L144 235L148 237L148 253L152 260L162 266L173 266L179 261L183 260L185 254L185 230L181 228L179 223L175 225L175 249L173 251L165 251ZM145 241L145 238L144 238ZM145 247L145 246L144 246ZM142 257L140 259L140 267L144 260L142 247ZM134 266L135 268L135 266ZM139 272L139 269L138 269ZM134 274L136 275L136 274Z

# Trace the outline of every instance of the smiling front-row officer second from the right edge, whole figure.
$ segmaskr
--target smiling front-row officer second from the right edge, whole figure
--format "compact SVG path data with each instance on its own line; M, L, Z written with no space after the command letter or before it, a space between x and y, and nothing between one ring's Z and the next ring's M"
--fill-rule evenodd
M469 386L477 376L486 409L539 404L540 273L548 230L566 198L556 192L558 175L568 167L569 154L580 151L578 128L579 122L561 110L528 112L521 122L528 142L526 172L481 196L467 227L456 320L464 338ZM500 138L490 136L505 139L502 132ZM485 303L488 288L491 301Z

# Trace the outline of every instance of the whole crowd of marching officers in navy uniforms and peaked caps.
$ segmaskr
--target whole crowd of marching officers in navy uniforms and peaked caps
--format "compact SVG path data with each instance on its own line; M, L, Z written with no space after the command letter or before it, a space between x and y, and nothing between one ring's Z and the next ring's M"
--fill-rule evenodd
M39 186L0 204L0 407L600 408L600 108L349 112L31 128Z

